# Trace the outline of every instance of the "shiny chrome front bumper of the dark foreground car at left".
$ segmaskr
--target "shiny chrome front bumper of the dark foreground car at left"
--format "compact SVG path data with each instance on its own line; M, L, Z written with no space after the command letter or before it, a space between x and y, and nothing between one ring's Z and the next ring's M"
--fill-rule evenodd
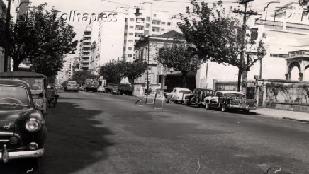
M44 148L37 149L34 151L7 151L6 148L0 153L0 160L4 161L4 163L8 162L9 160L18 159L18 158L38 158L44 155Z

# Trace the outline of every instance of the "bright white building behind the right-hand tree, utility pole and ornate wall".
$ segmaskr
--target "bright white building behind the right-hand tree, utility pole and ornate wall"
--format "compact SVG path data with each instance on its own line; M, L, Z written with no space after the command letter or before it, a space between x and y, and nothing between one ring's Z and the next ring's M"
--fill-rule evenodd
M263 16L250 18L248 25L250 28L259 29L259 37L263 32L266 34L267 54L262 59L262 79L286 79L286 59L284 58L288 56L288 52L309 50L309 20L308 16L303 16L303 21L301 20L303 7L300 7L298 2L271 5L278 8L272 12L263 12ZM251 68L248 79L254 79L254 75L260 75L260 65L257 62ZM207 83L210 87L214 79L237 81L238 69L234 66L208 62L207 74ZM298 80L298 76L298 69L293 69L291 79ZM303 80L309 81L309 79Z

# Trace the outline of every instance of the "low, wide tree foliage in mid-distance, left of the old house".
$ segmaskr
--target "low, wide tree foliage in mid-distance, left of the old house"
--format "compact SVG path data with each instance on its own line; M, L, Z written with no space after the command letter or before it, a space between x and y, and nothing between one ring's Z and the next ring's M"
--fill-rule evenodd
M99 74L109 83L120 83L121 79L128 77L130 82L137 79L145 72L147 63L142 60L123 62L112 60L101 66Z

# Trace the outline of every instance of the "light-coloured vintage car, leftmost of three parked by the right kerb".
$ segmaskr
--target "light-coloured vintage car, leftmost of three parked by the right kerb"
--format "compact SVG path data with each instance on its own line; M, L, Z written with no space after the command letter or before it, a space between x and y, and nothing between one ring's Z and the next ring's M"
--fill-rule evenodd
M184 103L184 98L187 95L191 95L192 91L188 88L173 88L171 93L165 93L165 102L169 103L169 101L173 101L174 103Z

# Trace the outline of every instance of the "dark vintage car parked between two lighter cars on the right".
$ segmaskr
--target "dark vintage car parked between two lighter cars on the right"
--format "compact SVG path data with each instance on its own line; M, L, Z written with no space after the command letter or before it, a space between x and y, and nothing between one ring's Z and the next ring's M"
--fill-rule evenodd
M191 95L186 95L184 104L202 107L205 105L204 98L215 95L215 91L205 88L196 88Z

